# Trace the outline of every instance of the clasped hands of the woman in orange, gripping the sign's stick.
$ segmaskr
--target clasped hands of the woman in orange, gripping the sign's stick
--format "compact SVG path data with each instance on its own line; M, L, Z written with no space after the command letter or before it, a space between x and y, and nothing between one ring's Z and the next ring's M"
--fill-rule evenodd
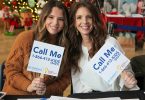
M41 85L44 85L44 81L42 78L34 78L32 83L27 87L28 92L33 92L37 90L41 90Z

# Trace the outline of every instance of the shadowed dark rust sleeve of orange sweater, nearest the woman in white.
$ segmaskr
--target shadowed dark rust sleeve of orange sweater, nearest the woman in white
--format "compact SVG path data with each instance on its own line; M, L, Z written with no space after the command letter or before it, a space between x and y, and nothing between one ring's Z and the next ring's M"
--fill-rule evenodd
M65 72L60 78L47 85L45 95L63 95L63 91L71 84L69 72Z

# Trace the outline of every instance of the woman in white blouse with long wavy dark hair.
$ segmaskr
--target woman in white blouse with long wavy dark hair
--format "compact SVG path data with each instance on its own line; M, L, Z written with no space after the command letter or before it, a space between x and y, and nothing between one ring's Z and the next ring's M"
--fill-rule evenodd
M107 34L99 15L98 9L89 2L77 2L70 9L71 24L70 32L67 34L70 45L66 47L66 50L68 50L67 63L72 68L73 93L86 93L93 90L122 91L138 89L137 81L129 65L112 85L109 85L97 74L93 77L87 77L89 74L92 75L89 70L85 70L85 67L89 67L86 66L87 62L105 43L109 42L123 52L116 39ZM96 82L95 87L91 87L91 81L86 82L82 79L84 74L93 83Z

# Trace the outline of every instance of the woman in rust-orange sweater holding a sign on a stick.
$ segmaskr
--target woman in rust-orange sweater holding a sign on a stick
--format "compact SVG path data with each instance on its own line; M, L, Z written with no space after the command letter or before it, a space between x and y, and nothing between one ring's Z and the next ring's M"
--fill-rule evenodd
M65 66L66 53L58 77L27 71L33 41L65 46L69 19L67 8L61 1L49 0L42 9L34 30L22 32L15 40L6 60L6 80L3 91L9 95L63 95L70 84L69 70Z

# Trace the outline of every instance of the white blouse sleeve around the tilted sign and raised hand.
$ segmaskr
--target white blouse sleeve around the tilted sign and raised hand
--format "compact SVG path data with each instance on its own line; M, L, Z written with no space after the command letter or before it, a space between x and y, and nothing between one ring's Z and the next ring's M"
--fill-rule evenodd
M108 39L109 40L109 39ZM110 37L110 42L111 44L113 44L120 52L122 52L124 55L125 55L125 52L123 51L122 47L120 46L119 42L113 38L113 37ZM131 73L134 74L133 70L132 70L132 67L130 64L127 65L127 67L124 69L126 71L129 71ZM119 81L119 87L120 87L120 91L124 91L124 90L128 90L127 88L125 88L124 86L124 80L122 80L121 76L118 77L117 81ZM117 82L118 83L118 82ZM136 85L134 88L131 88L129 90L138 90L139 87Z

